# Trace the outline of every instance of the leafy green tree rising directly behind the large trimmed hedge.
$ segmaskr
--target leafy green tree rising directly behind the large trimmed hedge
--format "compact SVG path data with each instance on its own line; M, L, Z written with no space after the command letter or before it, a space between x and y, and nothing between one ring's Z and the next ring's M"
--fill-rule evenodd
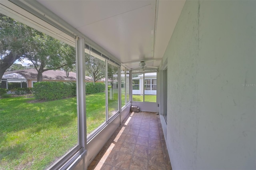
M76 62L74 47L44 33L34 36L33 42L35 43L33 51L27 57L38 72L38 82L42 81L44 71L57 70L62 67L68 76L68 71L74 67Z

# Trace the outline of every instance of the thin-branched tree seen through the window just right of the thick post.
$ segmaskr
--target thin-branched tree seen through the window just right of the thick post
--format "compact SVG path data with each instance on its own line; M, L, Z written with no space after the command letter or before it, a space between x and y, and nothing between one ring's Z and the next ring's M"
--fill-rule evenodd
M85 75L92 77L94 83L105 77L105 62L87 53L85 54L85 69Z

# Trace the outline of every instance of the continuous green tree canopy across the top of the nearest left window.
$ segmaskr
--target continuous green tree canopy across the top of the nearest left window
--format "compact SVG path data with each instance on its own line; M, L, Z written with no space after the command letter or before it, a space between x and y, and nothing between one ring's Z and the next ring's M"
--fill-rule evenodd
M74 67L75 49L42 32L0 14L0 79L18 59L29 59L38 71L38 81L47 70Z

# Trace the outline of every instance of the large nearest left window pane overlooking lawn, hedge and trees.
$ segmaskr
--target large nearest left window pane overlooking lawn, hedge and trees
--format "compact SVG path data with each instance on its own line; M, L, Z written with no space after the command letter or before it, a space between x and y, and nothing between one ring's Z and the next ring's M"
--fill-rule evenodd
M3 14L0 14L0 25L0 40L4 45L4 50L0 51L1 59L8 58L11 51L19 51L20 56L26 56L34 63L35 70L47 68L53 71L65 67L69 75L71 69L76 71L74 47ZM36 71L30 76L36 79L38 75L40 77ZM63 75L50 76L68 79ZM1 88L28 86L26 81L20 80L8 80L7 83L2 81ZM40 83L44 84L37 89L34 87L34 91L47 99L36 99L31 94L0 99L1 113L4 113L0 119L0 169L47 169L62 156L78 151L76 82L53 79L52 82L38 82L35 86Z

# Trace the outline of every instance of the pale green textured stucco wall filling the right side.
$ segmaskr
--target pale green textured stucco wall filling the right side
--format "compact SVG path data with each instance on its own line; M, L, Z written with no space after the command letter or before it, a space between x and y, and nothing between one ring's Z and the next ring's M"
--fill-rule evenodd
M186 1L164 58L172 168L256 169L256 1Z

